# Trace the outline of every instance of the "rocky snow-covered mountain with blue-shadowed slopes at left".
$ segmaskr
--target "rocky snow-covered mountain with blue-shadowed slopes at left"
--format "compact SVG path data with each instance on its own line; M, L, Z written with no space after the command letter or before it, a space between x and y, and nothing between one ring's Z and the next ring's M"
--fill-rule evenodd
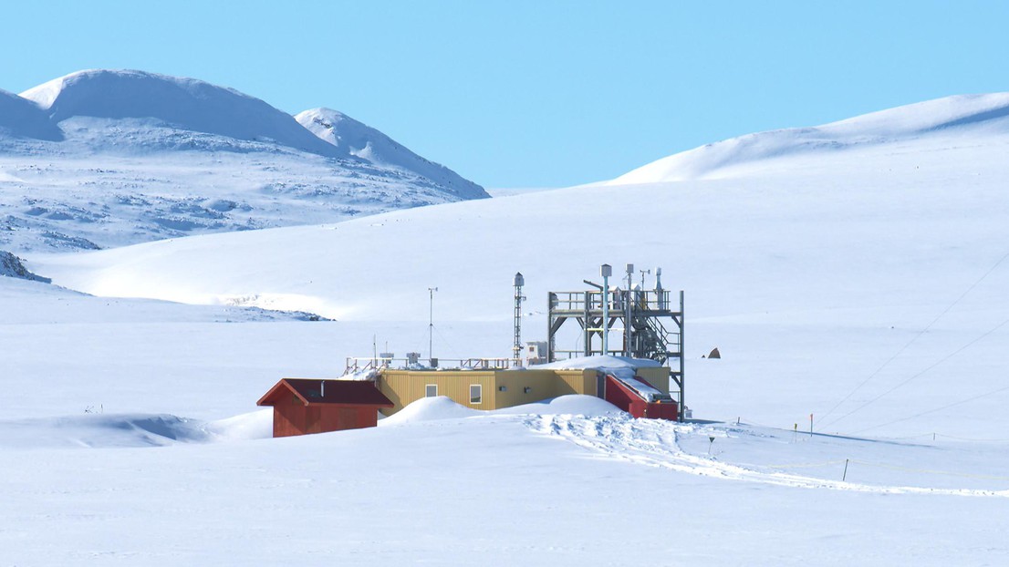
M353 122L330 143L232 89L84 71L0 92L0 248L80 249L487 197Z

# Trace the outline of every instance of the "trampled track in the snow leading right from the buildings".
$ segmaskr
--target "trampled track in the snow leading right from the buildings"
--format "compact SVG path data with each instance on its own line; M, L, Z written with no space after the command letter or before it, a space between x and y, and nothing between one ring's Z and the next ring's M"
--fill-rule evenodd
M533 431L572 442L604 458L697 476L796 488L828 488L885 494L1009 497L1009 490L861 484L788 472L759 470L722 462L707 455L690 454L680 448L677 443L679 436L707 434L706 431L701 432L698 426L691 424L636 420L629 416L547 415L532 416L525 420L525 425ZM715 434L724 435L724 432Z

